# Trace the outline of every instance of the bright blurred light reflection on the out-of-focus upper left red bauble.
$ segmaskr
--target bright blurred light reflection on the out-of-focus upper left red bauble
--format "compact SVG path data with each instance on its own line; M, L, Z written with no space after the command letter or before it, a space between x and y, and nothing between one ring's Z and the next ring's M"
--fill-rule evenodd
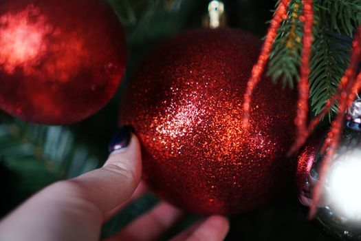
M0 46L0 70L14 74L19 68L39 81L67 82L90 64L78 33L54 29L32 4L0 17Z

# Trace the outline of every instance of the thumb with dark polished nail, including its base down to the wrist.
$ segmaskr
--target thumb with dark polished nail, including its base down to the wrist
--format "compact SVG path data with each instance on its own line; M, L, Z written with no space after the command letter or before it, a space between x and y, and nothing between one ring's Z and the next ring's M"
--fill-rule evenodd
M130 128L114 140L104 167L37 193L1 222L0 240L98 240L103 216L131 196L142 172Z

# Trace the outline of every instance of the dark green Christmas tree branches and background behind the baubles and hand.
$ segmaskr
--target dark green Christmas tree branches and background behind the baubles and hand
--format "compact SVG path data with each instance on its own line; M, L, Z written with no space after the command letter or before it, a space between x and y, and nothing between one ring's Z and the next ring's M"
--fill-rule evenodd
M170 36L202 27L202 23L210 24L209 1L108 2L122 23L127 37L127 70L122 85L116 96L103 109L85 121L73 125L25 123L1 112L0 180L5 188L0 207L2 216L52 182L73 178L100 167L102 161L107 158L109 140L118 127L120 99L127 90L129 78L132 78L146 53ZM276 3L239 0L223 1L223 4L222 24L230 28L241 28L259 36L267 36L265 41L270 37L270 32L274 31L273 38L269 39L272 42L268 54L269 61L265 63L263 71L274 83L281 83L281 89L283 86L290 92L307 76L307 101L310 111L305 118L311 119L323 113L328 105L327 101L332 100L333 95L337 93L342 76L349 67L350 56L355 51L352 43L357 36L358 26L361 25L361 1L291 0ZM308 30L311 28L312 34L309 39L311 45L308 61L305 59L307 46L305 48L304 44L307 41L307 19L309 20L305 11L307 4L312 7L313 20L311 25L308 25ZM272 26L275 26L272 21L277 20L282 6L285 13L283 16L280 15L278 27L272 30ZM357 61L360 62L360 57ZM307 71L303 69L304 63ZM307 72L306 75L303 74L303 70ZM341 102L340 99L333 101L329 111L323 113L322 117L325 118L320 118L320 129L331 126L331 121L339 113L338 103ZM345 106L346 109L347 107ZM283 108L290 107L285 103ZM338 132L342 133L342 130ZM358 132L348 132L347 136L358 136ZM298 144L304 143L305 140ZM107 222L103 235L115 233L156 202L157 198L153 194L146 194ZM197 215L189 214L184 222L164 238L171 237L173 233L184 229L198 218ZM228 240L329 240L329 236L324 236L320 229L305 218L294 193L293 183L289 183L288 187L267 204L239 216L232 216L230 221ZM328 230L325 227L324 229Z

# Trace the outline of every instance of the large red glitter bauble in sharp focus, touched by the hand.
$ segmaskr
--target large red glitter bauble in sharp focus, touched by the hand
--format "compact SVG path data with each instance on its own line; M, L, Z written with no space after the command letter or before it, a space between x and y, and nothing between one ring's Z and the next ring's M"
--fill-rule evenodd
M243 95L261 40L241 30L191 30L156 48L122 101L143 150L144 179L160 197L195 213L261 205L292 171L296 93L263 78L250 128Z

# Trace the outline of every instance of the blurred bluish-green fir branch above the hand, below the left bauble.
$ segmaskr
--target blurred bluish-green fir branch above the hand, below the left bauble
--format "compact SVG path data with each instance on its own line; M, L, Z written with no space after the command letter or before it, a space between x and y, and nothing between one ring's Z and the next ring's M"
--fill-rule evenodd
M78 144L67 127L12 120L0 125L0 156L27 190L34 193L55 180L72 178L98 166L98 159ZM28 182L28 185L26 185Z

